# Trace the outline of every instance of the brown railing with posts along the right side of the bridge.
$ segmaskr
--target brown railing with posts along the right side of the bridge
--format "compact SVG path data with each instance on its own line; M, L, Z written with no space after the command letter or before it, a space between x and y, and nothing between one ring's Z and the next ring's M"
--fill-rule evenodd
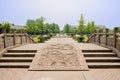
M115 53L118 53L120 57L120 34L118 33L118 28L114 28L114 33L109 33L109 30L106 29L106 32L103 33L102 30L94 33L89 37L89 43L95 43L112 49Z

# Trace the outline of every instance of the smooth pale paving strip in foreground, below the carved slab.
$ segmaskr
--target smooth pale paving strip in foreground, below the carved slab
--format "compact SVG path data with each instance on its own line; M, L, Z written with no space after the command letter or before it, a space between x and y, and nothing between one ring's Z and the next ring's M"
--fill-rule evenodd
M28 71L22 80L95 80L89 71Z

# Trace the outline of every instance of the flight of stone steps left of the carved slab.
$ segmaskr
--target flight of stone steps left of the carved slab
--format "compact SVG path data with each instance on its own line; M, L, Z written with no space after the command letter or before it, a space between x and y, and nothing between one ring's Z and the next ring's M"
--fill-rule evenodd
M37 50L8 50L0 58L0 68L29 68Z

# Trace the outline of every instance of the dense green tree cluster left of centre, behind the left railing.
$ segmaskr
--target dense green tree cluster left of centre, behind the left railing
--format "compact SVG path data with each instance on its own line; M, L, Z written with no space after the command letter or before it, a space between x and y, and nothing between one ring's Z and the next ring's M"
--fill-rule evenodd
M45 23L45 18L40 17L36 20L28 19L26 29L29 34L49 34L59 33L60 28L56 23Z

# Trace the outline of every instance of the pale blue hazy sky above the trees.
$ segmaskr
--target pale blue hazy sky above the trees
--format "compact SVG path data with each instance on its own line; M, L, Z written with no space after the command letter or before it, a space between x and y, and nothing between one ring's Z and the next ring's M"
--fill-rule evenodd
M66 23L78 25L81 13L86 22L108 28L120 26L120 0L0 0L0 22L18 25L41 16L61 28Z

